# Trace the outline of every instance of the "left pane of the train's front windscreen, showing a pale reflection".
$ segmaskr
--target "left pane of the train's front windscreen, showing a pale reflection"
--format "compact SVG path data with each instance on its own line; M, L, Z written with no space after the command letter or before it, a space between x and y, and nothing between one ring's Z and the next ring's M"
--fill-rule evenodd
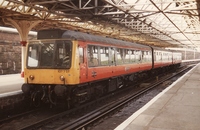
M39 47L37 45L29 45L28 47L28 67L38 66L38 52Z

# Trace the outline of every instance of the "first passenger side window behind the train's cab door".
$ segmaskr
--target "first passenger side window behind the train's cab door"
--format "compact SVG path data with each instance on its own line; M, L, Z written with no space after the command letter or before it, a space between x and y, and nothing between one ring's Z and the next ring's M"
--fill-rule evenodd
M89 67L99 65L98 47L97 46L93 46L93 45L88 46L88 65L89 65Z

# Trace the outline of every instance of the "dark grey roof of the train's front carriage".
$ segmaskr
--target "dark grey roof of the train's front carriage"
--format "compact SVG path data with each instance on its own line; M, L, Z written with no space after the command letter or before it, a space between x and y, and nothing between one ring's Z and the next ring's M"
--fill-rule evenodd
M149 49L150 47L147 45L142 45L138 43L132 43L127 41L122 41L118 39L102 37L97 35L92 35L88 33L71 31L71 30L60 30L60 29L51 29L51 30L41 30L38 32L38 39L73 39L73 40L81 40L81 41L90 41L90 42L99 42L101 44L107 43L111 45L117 46L127 46L134 48L143 48Z

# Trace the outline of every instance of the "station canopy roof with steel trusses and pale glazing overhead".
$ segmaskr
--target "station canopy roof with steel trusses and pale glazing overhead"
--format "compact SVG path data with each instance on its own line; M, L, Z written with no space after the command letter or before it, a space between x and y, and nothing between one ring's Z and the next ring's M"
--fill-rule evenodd
M8 19L159 47L200 48L200 0L0 0Z

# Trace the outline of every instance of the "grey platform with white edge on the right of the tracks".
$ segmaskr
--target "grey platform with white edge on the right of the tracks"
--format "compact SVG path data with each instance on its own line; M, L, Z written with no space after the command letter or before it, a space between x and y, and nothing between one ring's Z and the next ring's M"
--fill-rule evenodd
M200 130L200 64L115 130Z

